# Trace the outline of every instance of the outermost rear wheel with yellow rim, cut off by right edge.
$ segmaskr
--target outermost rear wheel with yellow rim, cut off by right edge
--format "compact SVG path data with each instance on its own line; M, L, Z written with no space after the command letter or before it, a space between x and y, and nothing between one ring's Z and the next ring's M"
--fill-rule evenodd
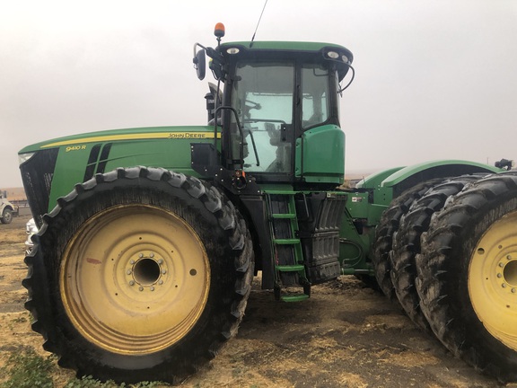
M416 288L431 329L457 357L517 380L517 175L451 198L423 234Z

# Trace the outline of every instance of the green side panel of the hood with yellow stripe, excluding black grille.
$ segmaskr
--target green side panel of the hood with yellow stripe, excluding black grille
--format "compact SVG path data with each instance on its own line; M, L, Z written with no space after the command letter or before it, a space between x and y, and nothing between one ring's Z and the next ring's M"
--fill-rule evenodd
M20 154L59 148L50 211L76 183L118 167L145 165L198 176L190 167L190 144L213 141L213 127L130 128L53 139L25 147Z

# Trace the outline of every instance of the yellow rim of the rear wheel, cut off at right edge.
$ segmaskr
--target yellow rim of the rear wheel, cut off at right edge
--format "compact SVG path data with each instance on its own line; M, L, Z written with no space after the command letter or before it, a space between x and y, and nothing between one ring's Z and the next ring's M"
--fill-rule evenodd
M472 254L469 295L497 340L517 350L517 212L491 225Z

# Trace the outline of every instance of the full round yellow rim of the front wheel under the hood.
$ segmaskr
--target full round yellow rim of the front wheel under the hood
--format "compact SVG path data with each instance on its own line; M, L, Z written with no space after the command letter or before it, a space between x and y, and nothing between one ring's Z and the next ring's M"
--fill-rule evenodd
M83 336L119 354L145 355L182 339L203 313L210 267L203 243L158 207L110 207L68 242L60 291Z

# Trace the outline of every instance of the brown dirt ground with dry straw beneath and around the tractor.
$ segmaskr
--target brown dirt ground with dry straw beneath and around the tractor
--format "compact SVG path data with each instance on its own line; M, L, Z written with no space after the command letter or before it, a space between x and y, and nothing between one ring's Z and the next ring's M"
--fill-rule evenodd
M11 352L41 348L23 308L25 223L0 225L0 366ZM418 330L399 307L354 277L313 287L285 304L259 282L237 338L185 387L498 387ZM59 370L56 386L73 372ZM517 384L508 384L517 387Z

